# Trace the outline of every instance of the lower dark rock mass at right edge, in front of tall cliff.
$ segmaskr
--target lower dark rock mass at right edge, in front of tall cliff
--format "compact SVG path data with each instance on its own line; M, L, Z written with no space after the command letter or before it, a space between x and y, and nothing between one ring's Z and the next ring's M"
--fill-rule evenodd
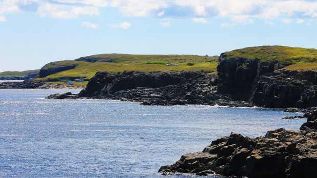
M257 106L309 108L317 106L317 72L275 71L260 75L251 97Z

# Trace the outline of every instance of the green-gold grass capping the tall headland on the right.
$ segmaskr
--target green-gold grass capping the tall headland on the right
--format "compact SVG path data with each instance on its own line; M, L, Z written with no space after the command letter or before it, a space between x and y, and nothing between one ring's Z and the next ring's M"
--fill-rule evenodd
M226 59L245 58L250 60L275 61L284 65L298 62L317 62L317 49L287 46L257 46L223 53Z

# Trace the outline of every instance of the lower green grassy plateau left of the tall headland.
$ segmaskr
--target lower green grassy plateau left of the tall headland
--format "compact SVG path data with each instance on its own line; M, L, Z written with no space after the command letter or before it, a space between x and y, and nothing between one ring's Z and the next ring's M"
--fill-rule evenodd
M54 80L67 77L92 78L98 71L122 72L122 71L180 71L180 70L205 70L215 72L217 67L217 57L204 57L194 55L95 55L106 56L106 58L116 57L116 62L85 62L85 61L59 61L53 62L46 67L59 67L64 65L78 64L74 69L51 74L46 78L37 80ZM103 58L105 59L105 58ZM213 62L205 62L211 60ZM188 66L192 62L194 66ZM178 66L167 66L167 63L177 63Z

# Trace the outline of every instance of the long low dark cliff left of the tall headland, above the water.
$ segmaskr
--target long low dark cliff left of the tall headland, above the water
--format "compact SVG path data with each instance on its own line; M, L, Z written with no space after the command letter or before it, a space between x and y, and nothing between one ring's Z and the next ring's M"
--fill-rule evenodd
M142 105L252 106L216 93L217 78L203 72L98 72L80 97L120 99Z

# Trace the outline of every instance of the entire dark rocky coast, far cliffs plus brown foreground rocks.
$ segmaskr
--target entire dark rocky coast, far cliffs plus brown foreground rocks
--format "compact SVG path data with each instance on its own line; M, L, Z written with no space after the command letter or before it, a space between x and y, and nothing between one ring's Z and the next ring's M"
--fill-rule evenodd
M142 105L218 105L229 107L290 108L305 112L299 131L277 129L258 138L232 133L201 152L184 155L162 174L192 173L250 178L317 177L317 72L281 70L278 63L225 59L218 75L205 72L97 72L79 94L47 98L119 99Z

